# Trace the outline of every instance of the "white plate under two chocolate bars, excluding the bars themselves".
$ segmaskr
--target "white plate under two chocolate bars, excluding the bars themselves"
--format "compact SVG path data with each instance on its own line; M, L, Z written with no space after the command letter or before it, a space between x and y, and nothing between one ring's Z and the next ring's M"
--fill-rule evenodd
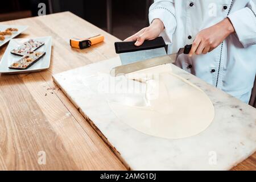
M39 61L33 64L30 68L24 70L9 69L8 67L13 64L15 61L18 61L22 56L16 56L11 53L15 48L18 48L24 42L29 39L34 39L37 41L44 42L44 45L36 51L46 52L46 55L42 57ZM12 39L6 48L5 53L3 54L2 60L0 62L0 73L27 73L27 72L36 72L43 69L49 68L51 62L51 50L52 50L52 38L51 36L45 36L40 38L28 38L28 39Z

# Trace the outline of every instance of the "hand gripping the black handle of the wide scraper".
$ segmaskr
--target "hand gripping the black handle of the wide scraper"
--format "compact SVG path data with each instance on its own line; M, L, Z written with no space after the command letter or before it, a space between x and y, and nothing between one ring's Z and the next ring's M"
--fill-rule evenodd
M163 30L163 22L160 19L154 19L149 27L143 28L142 30L125 39L124 41L136 41L134 45L141 46L144 40L153 40L155 38L158 38Z

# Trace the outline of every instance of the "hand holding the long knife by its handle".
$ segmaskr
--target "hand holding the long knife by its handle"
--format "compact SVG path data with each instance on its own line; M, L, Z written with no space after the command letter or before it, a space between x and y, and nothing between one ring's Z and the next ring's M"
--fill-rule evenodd
M233 34L234 27L228 18L212 27L206 28L197 34L189 56L206 54L218 47L230 34Z

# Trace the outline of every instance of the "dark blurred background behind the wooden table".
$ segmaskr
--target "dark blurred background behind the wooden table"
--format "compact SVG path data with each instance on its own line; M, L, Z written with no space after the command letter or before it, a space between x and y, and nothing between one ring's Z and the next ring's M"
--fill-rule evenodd
M90 23L125 39L148 25L148 8L152 0L110 0L110 26L108 26L109 0L8 0L0 6L0 22L38 16L38 4L47 6L47 14L71 11ZM112 22L112 23L111 23Z

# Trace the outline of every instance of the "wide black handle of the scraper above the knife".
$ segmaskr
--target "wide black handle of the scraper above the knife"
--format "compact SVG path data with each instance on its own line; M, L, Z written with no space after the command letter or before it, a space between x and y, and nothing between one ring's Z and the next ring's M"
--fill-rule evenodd
M164 42L162 36L154 40L145 40L141 46L135 46L135 41L133 42L115 42L115 52L116 53L125 53L125 52L135 52L143 51L148 49L156 49L165 47L166 43Z

